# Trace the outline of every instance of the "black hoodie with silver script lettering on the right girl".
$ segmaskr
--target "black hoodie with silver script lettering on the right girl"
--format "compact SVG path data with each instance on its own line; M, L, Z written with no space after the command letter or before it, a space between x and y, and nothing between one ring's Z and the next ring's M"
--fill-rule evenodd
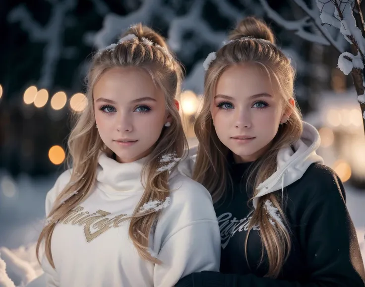
M287 173L289 184L271 178L261 185L261 194L276 188L278 198L286 199L283 204L291 234L291 252L277 279L264 277L268 271L267 256L262 252L257 228L251 230L247 242L247 258L244 253L244 240L253 206L247 205L252 189L246 189L243 176L250 164L230 163L229 169L233 186L227 190L225 198L216 203L216 213L221 231L221 269L220 273L203 271L186 276L175 287L364 287L364 264L357 235L345 204L345 191L337 174L315 160L318 143L317 133L305 125L307 138L312 136L307 146L307 156L312 158L309 166L299 177ZM293 155L303 148L293 147ZM303 149L305 150L305 149ZM310 151L311 150L311 151ZM308 156L311 154L311 156ZM283 153L282 153L283 155ZM283 156L282 158L286 158ZM297 156L298 158L298 156ZM279 160L278 160L279 161ZM278 174L285 174L290 164L278 163ZM298 171L297 171L298 172ZM298 177L298 176L297 176ZM290 178L292 178L290 183ZM283 194L281 194L283 193ZM255 202L254 202L255 204ZM268 203L269 204L269 203ZM275 224L279 224L275 221ZM198 255L197 255L198 256ZM248 261L248 262L247 262Z

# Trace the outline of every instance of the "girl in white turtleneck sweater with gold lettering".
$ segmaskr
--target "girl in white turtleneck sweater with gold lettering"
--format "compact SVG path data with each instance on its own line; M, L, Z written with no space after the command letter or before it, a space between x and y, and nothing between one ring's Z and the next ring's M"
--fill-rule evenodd
M172 287L219 270L210 194L175 170L181 79L162 37L140 24L94 56L68 140L72 169L47 194L37 254L48 286Z

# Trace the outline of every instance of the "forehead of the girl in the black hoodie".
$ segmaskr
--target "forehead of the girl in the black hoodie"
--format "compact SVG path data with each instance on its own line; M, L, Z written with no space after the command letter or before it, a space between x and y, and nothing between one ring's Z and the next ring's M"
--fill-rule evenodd
M258 64L238 64L229 66L219 77L215 94L231 97L250 97L267 93L275 95L269 75Z

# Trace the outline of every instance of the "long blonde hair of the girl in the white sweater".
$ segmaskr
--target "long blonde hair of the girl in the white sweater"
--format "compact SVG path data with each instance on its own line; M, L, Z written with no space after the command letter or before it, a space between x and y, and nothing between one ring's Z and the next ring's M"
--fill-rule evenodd
M176 154L178 158L181 158L187 147L181 117L174 102L180 94L183 68L162 36L152 29L137 24L129 28L124 36L129 34L134 34L136 37L127 37L127 41L113 45L113 49L105 49L95 54L87 75L87 107L77 118L68 139L69 166L72 162L71 178L58 195L48 215L50 224L43 228L37 242L38 260L40 244L44 240L45 254L53 268L55 265L51 253L51 237L57 222L67 217L69 212L93 190L100 151L109 156L113 153L105 146L95 128L93 87L108 69L127 66L144 69L150 74L155 85L163 90L167 111L173 118L171 126L163 128L148 163L143 167L141 179L143 174L147 174L145 191L132 216L128 218L130 219L129 237L139 255L147 261L161 263L160 260L151 256L148 250L150 230L157 222L160 212L151 210L140 213L138 211L143 204L151 200L161 202L166 200L170 194L169 171L157 171L161 166L160 159L166 154ZM64 198L66 198L65 201Z

